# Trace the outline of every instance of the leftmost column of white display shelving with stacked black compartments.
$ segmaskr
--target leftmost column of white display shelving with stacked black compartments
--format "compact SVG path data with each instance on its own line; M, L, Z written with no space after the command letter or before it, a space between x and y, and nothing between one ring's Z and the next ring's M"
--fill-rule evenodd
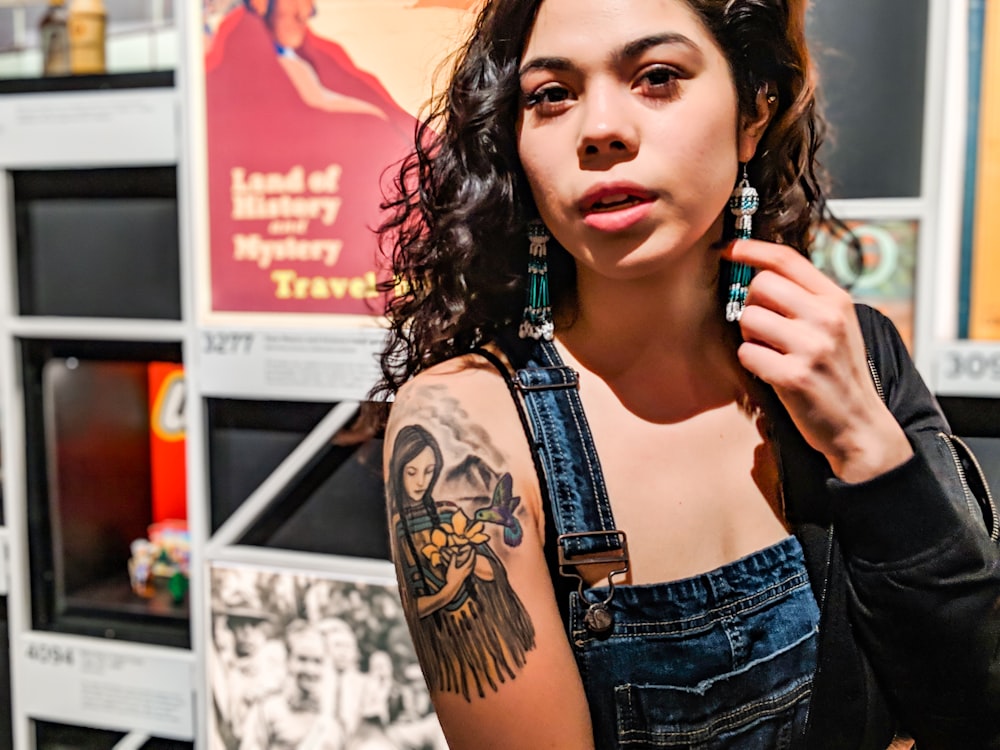
M58 79L32 67L29 16L42 5L0 3L0 27L14 17L27 29L0 50L0 541L13 686L0 745L148 735L169 739L147 747L191 747L191 594L166 577L180 571L187 512L173 4L153 3L160 20L131 26L146 3L108 4L123 6L109 63L126 37L169 27L164 65ZM134 563L150 546L136 543L153 536L170 553L147 576Z

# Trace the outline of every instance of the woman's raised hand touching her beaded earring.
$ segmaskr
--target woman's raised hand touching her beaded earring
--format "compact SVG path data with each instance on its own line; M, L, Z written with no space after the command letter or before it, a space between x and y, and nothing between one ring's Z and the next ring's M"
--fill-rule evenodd
M740 363L774 388L834 473L861 482L906 461L912 449L872 383L850 295L784 245L737 240L723 257L757 270Z

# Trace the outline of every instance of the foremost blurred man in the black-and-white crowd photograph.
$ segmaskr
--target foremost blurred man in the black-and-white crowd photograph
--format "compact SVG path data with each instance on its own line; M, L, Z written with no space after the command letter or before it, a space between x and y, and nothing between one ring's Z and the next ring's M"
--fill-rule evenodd
M342 750L344 730L324 709L329 692L323 634L305 620L285 628L288 677L284 688L253 706L240 750Z

